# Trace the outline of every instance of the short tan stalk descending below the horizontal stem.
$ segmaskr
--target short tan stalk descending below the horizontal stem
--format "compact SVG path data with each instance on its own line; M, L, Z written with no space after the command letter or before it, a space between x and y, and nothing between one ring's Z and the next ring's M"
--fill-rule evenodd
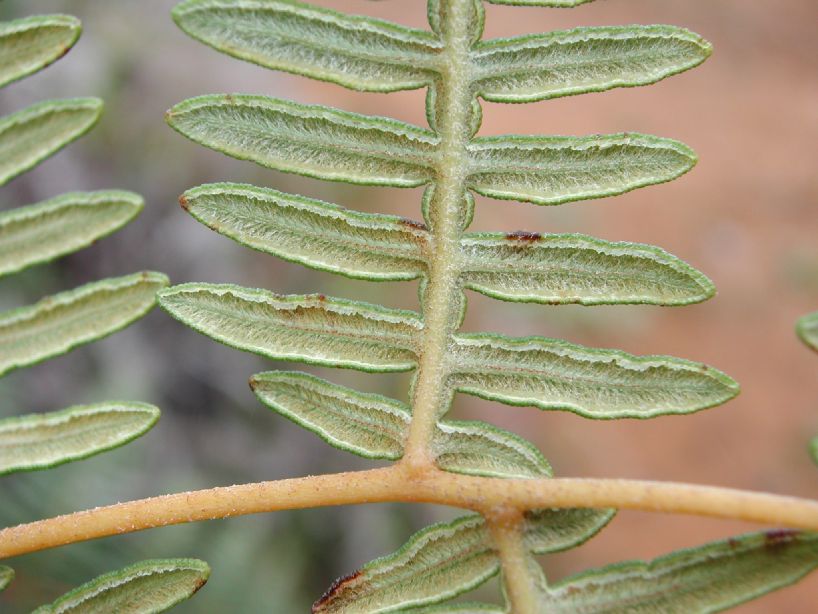
M506 599L513 614L537 614L537 590L531 577L530 555L523 541L519 510L489 516L488 527L500 557Z

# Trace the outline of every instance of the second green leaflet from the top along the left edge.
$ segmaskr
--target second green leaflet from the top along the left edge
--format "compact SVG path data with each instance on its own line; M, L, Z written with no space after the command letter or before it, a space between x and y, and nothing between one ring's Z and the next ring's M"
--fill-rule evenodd
M88 132L102 114L98 98L48 100L0 119L0 185Z

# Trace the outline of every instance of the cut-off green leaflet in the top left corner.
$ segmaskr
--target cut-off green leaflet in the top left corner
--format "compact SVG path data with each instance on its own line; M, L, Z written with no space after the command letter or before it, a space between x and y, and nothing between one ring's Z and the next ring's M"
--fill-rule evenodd
M82 31L75 17L38 15L0 22L0 87L64 56Z

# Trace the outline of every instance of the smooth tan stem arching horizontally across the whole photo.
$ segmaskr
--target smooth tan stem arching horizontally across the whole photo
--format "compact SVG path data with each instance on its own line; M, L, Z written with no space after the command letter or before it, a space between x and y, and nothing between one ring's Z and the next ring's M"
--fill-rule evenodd
M0 531L0 558L109 535L276 510L378 502L437 503L491 516L497 509L618 508L692 514L818 531L818 502L632 480L504 480L386 469L212 488L99 507Z

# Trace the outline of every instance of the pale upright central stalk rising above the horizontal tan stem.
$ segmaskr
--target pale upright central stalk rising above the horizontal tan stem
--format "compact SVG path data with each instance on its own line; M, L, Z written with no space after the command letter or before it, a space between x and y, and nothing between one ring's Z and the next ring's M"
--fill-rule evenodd
M423 296L424 343L414 387L413 416L404 462L427 467L433 459L429 441L450 402L446 394L447 352L460 309L458 284L460 238L468 167L471 124L470 15L473 0L448 0L441 24L445 49L436 85L440 159L428 218L435 250Z

